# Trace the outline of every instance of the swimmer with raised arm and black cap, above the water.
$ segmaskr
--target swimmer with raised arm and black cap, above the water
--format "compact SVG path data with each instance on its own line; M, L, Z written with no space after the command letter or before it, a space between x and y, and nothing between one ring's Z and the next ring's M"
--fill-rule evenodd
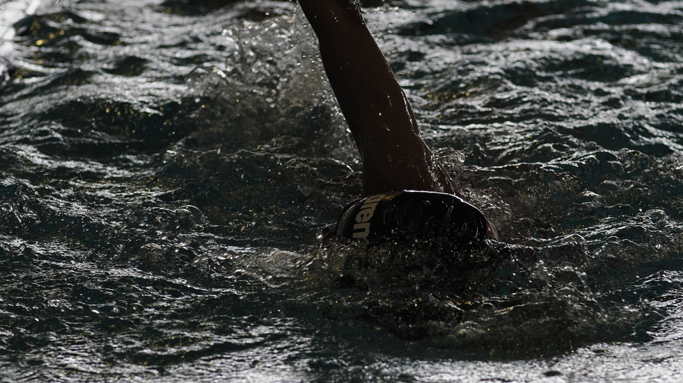
M454 245L498 236L420 136L405 93L361 16L357 0L299 0L363 163L363 194L336 234L377 243L446 238Z

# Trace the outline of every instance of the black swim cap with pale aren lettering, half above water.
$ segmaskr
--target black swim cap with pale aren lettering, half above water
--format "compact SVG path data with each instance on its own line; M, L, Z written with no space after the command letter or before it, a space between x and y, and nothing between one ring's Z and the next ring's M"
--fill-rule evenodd
M481 211L460 197L401 190L348 204L339 217L336 234L370 243L441 238L449 244L467 245L484 241L488 228Z

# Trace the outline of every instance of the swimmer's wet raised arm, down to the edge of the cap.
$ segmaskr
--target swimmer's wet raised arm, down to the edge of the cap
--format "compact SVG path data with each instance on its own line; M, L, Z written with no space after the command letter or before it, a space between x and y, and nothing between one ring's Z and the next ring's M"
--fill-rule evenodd
M366 193L457 193L420 137L405 93L363 22L358 2L299 4L320 41L325 72L361 152Z

